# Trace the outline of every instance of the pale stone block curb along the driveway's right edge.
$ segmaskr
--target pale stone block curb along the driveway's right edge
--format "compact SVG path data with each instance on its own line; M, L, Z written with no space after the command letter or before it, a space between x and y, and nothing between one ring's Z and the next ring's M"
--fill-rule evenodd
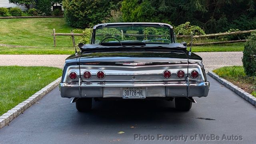
M256 98L254 96L252 96L251 94L249 94L248 92L245 92L244 90L242 90L238 86L232 84L231 82L225 80L224 78L220 78L220 76L218 76L217 74L215 74L212 71L209 71L208 75L210 75L212 78L214 78L215 80L220 82L222 85L226 86L227 88L229 88L230 90L232 90L233 92L238 94L238 96L240 96L240 97L244 98L246 101L250 102L253 106L256 106Z

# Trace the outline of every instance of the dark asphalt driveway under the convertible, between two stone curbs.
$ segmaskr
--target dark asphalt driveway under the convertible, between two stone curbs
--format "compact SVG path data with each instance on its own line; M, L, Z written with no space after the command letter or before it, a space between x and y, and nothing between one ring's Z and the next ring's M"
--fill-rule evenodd
M92 112L80 113L55 88L0 129L0 144L170 144L185 143L186 136L186 142L194 144L254 143L256 108L209 76L208 80L208 97L195 98L198 103L189 112L174 110L168 101L104 101L94 102ZM201 134L220 140L200 140ZM148 135L155 140L146 140Z

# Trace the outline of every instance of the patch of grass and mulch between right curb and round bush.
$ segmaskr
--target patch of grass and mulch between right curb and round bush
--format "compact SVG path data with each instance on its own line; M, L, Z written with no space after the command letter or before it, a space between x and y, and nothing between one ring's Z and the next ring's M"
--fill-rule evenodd
M213 72L256 97L256 78L246 76L243 66L225 66Z

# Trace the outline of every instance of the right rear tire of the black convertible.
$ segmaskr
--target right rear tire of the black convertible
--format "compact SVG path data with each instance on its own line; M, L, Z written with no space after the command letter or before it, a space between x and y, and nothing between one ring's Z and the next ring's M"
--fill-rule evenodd
M188 111L192 106L192 102L188 98L175 98L175 109L180 111Z

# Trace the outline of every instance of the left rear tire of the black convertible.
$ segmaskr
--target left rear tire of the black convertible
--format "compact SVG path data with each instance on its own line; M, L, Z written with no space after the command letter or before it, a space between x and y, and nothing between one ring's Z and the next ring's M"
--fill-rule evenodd
M92 109L92 98L79 98L76 101L76 109L79 112L88 112Z

